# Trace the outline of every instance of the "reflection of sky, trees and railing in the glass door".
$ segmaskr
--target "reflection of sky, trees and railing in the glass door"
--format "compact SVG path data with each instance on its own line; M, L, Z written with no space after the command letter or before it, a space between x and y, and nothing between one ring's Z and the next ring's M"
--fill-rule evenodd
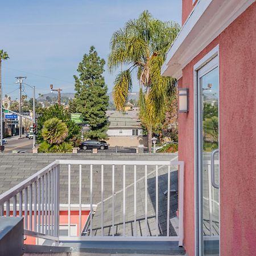
M218 68L200 77L201 86L201 143L203 168L203 212L201 221L204 255L218 255L219 201L218 189L212 186L210 177L210 154L218 148ZM216 155L215 181L218 183L218 156Z

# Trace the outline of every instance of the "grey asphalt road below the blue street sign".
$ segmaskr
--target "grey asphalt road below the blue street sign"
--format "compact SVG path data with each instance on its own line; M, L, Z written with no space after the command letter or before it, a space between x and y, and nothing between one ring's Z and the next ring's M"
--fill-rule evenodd
M23 135L24 136L24 135ZM22 152L31 152L32 153L32 146L33 140L28 138L19 139L18 136L6 138L7 144L5 144L5 151L4 152L11 152L13 150L19 150Z

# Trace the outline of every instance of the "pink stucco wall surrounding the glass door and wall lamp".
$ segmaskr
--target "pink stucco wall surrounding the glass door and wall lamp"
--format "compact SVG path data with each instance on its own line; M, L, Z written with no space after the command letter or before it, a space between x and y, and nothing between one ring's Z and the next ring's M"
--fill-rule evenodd
M184 246L195 253L193 65L219 44L221 255L256 251L256 3L184 69L189 113L179 114L179 160L185 161Z

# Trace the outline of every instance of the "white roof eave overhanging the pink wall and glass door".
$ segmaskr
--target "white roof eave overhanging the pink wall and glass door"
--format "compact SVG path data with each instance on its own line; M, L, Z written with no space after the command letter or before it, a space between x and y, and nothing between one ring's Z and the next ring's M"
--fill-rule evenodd
M254 1L197 1L167 53L161 74L180 79L182 69Z

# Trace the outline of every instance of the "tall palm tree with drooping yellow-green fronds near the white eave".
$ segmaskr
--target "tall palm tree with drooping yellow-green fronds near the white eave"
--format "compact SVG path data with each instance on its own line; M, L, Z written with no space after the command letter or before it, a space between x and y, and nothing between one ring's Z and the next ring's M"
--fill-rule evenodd
M147 128L148 150L152 147L152 128L161 122L166 112L166 101L174 92L175 80L162 77L160 68L166 52L180 30L175 22L162 22L143 11L138 19L129 20L124 28L114 32L108 59L110 72L121 68L114 82L114 104L123 110L132 89L131 72L137 71L140 85L139 115ZM122 66L128 68L122 71Z

